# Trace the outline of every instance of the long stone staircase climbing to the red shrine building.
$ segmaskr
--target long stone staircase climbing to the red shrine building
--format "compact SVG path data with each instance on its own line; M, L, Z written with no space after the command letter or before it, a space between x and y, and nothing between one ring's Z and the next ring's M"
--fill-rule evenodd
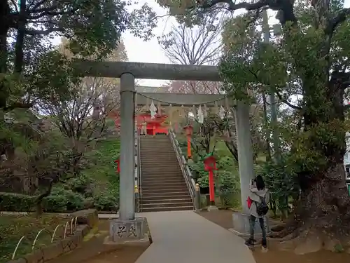
M193 210L168 135L141 135L141 212Z

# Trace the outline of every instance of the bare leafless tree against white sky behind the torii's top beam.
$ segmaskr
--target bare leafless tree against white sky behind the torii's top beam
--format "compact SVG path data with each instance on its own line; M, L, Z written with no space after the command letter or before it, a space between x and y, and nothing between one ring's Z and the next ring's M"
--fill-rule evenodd
M217 65L223 43L221 29L223 15L204 15L200 25L172 25L168 34L158 37L167 58L181 65ZM221 83L209 81L171 81L171 92L219 93Z

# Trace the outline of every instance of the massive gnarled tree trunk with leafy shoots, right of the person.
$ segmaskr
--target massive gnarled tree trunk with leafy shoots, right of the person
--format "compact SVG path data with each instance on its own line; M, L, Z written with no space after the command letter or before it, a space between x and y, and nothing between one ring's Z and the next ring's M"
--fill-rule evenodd
M344 231L350 233L350 199L344 170L344 90L336 83L331 79L328 85L304 88L302 151L309 152L304 159L309 169L299 175L302 194L295 219L302 229L344 236Z

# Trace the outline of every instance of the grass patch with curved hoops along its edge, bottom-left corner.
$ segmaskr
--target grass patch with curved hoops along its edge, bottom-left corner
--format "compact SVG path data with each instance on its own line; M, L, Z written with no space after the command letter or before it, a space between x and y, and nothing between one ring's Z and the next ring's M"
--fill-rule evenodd
M8 262L22 236L25 238L18 246L16 257L19 258L31 252L31 246L38 231L45 229L38 236L35 248L49 245L51 237L57 224L66 224L69 219L57 215L43 215L33 217L31 215L0 215L0 262ZM62 237L63 227L57 230L55 236ZM55 238L56 240L56 238Z

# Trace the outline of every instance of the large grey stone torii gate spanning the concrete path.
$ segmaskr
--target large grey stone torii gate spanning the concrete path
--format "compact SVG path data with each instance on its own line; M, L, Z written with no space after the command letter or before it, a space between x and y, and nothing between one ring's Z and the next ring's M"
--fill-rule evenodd
M78 60L74 63L76 69L79 69L83 76L120 78L120 217L118 220L111 223L111 236L121 233L121 238L123 233L127 232L126 229L132 227L132 229L134 229L134 232L132 232L134 236L127 236L125 238L140 238L143 235L142 231L144 231L144 227L142 227L144 225L144 220L135 217L134 150L132 150L134 149L135 142L135 79L221 81L218 68L215 66L171 65L140 62L95 62L85 60ZM174 101L174 103L180 105L193 105L196 104L196 102L206 101L206 97L218 96L172 93L153 93L153 96L154 95L162 96L163 100ZM165 99L165 97L167 97L167 99ZM210 99L207 101L210 101ZM249 112L250 105L242 101L237 101L235 103L237 150L239 156L239 177L241 182L241 203L243 214L248 213L246 205L246 198L248 197L249 191L248 185L254 176ZM244 222L248 222L248 220L244 219Z

